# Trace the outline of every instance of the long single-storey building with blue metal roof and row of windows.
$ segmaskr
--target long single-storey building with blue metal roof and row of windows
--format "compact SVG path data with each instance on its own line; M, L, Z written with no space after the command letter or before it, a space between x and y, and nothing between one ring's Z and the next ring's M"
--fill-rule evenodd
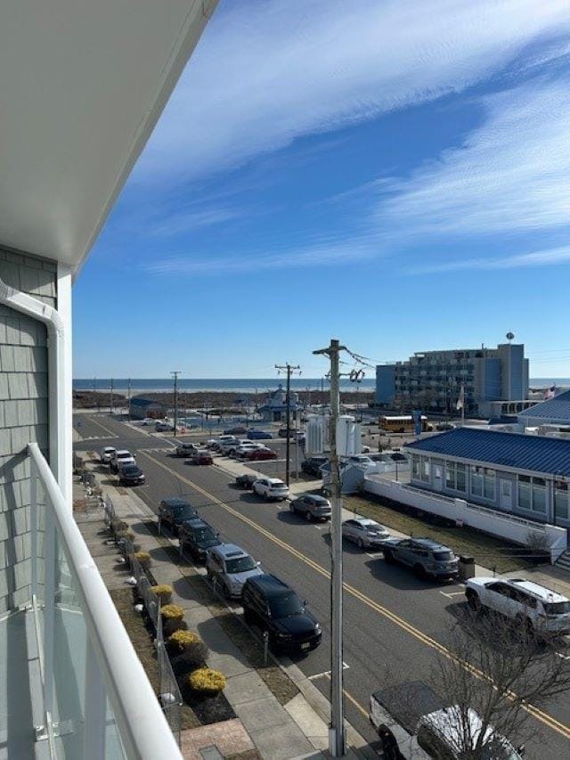
M570 440L458 428L404 450L412 486L570 527Z

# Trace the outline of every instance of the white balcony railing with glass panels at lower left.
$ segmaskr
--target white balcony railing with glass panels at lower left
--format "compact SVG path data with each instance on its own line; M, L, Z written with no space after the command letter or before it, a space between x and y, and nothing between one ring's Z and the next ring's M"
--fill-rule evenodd
M37 444L28 454L31 608L43 691L37 741L52 758L181 758L70 504Z

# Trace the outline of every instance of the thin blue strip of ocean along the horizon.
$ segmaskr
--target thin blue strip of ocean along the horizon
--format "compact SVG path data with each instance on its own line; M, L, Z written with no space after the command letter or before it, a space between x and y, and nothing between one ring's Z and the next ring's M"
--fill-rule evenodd
M101 390L110 389L110 378L77 378L73 380L74 390ZM226 378L226 379L195 379L195 378L178 378L178 389L181 393L196 392L200 390L210 391L229 391L231 393L265 393L268 390L275 390L282 383L284 378ZM556 385L558 388L570 386L570 378L533 378L530 380L531 388L550 388ZM347 378L340 380L341 390L356 390L359 387L362 391L373 391L376 388L375 378L364 378L360 383L354 383ZM118 393L126 392L128 388L127 378L113 378L113 388ZM140 393L143 391L169 392L173 388L172 379L169 378L131 378L131 392ZM322 378L291 378L292 390L325 390L329 389L329 382Z

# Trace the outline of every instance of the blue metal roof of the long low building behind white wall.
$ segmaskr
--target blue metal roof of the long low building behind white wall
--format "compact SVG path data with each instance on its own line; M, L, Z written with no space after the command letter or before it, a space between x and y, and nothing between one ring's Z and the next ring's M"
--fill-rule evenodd
M404 448L410 452L442 454L516 470L570 476L570 440L563 438L457 428L414 441Z

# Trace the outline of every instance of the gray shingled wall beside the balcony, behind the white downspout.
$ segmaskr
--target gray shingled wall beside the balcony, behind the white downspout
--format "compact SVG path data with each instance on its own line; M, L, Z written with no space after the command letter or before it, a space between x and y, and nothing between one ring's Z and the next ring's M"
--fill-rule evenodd
M56 267L0 247L0 277L56 306ZM47 331L0 305L0 614L30 596L29 462L37 441L47 457Z

